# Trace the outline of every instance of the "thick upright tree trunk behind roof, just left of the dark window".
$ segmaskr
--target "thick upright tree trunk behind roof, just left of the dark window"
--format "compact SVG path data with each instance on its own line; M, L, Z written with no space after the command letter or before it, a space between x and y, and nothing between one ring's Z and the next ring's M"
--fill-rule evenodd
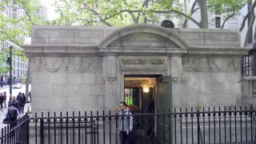
M201 27L202 29L208 29L208 14L207 14L207 5L206 0L198 0L198 5L200 7L201 14Z

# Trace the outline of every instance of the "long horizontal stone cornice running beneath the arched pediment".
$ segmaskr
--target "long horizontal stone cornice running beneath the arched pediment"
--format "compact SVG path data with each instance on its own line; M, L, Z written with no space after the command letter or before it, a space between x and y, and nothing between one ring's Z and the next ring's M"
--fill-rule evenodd
M96 45L76 44L32 44L23 45L27 57L32 56L68 56L68 55L104 55L111 54L232 54L244 55L250 50L240 46L190 46L188 50L180 48L126 48L111 47L98 49Z

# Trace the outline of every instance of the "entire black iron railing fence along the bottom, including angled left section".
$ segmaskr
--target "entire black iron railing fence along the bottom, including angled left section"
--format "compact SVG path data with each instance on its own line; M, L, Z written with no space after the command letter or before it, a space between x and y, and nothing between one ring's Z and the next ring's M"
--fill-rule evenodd
M30 144L115 144L120 143L120 130L128 126L129 138L136 144L253 144L256 143L255 108L174 108L157 110L155 114L111 111L34 114L33 118L25 116L14 126L2 129L0 142L28 144L30 139Z

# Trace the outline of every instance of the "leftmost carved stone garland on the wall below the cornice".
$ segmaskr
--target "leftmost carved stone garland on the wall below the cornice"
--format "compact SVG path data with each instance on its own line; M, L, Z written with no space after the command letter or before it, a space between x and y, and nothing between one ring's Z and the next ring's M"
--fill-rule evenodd
M54 73L62 68L64 58L42 58L42 64L47 71Z

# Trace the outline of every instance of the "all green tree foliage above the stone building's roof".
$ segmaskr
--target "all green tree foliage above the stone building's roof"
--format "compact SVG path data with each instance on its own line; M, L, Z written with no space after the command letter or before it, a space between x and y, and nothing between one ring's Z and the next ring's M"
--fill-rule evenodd
M223 14L223 18L232 18L239 14L239 10L246 6L248 1L208 0L208 10L204 11L208 14ZM184 4L180 0L55 0L55 6L60 18L48 23L64 26L127 26L143 22L158 23L163 15L167 18L185 16L192 20L190 16L193 14L186 14ZM194 7L194 11L197 10L200 10L198 4ZM200 22L194 22L200 25Z

